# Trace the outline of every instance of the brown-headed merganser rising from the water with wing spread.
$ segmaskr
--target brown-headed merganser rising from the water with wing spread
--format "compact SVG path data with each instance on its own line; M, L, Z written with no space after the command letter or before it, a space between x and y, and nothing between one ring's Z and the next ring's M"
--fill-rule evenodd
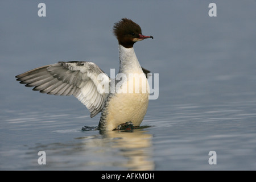
M17 75L16 80L40 93L75 96L91 118L101 112L97 130L115 130L127 122L139 126L148 107L150 71L139 64L134 43L153 36L143 35L139 24L127 18L114 23L113 34L118 40L119 80L89 61L59 61Z

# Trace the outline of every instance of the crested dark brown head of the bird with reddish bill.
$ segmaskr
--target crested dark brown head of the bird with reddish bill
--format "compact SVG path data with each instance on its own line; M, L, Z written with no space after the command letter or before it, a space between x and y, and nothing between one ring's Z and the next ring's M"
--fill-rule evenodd
M123 47L131 48L135 42L152 38L152 36L142 35L141 27L130 19L122 18L114 24L113 33L117 37L118 43Z

